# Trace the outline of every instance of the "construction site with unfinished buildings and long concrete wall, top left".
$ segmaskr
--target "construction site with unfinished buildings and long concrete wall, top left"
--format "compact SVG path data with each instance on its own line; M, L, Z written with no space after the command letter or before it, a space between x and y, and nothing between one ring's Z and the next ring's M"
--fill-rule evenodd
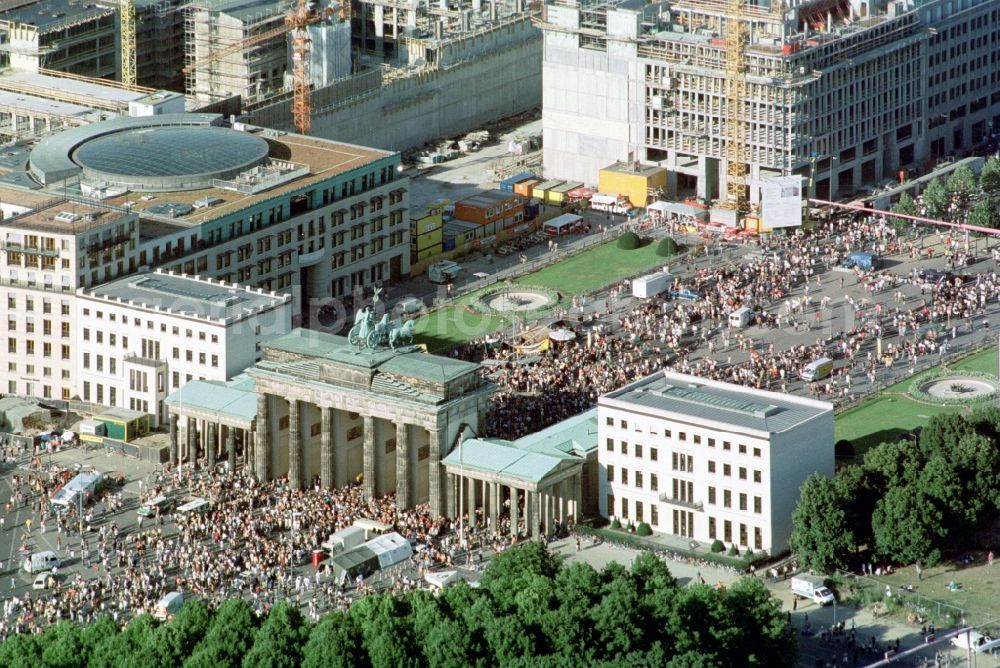
M4 0L0 64L0 81L41 98L51 81L36 75L120 82L393 150L541 104L541 32L523 0Z

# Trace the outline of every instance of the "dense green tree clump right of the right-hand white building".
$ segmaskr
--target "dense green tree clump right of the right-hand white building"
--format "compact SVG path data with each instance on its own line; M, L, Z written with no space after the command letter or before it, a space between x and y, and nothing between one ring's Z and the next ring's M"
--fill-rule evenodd
M831 572L857 560L933 565L968 549L1000 509L998 435L996 407L939 415L919 439L882 443L834 478L810 477L792 514L792 550Z

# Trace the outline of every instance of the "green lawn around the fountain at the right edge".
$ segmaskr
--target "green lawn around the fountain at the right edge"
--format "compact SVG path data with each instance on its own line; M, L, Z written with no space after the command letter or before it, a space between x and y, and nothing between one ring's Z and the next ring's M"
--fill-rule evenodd
M987 348L962 359L950 368L956 371L996 373L997 350ZM918 377L920 375L923 374L918 374ZM911 382L913 379L907 378L887 388L874 399L837 415L834 420L836 439L851 441L855 453L862 455L872 446L894 440L900 432L926 425L935 415L972 410L968 406L940 406L915 401L907 394Z

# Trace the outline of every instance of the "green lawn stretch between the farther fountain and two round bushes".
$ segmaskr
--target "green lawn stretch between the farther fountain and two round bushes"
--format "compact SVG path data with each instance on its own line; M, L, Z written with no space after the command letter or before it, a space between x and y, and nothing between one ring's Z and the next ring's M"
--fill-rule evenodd
M653 242L627 251L618 248L616 241L609 241L551 267L522 276L516 282L551 288L564 295L582 294L667 264L667 258L656 254L656 245Z

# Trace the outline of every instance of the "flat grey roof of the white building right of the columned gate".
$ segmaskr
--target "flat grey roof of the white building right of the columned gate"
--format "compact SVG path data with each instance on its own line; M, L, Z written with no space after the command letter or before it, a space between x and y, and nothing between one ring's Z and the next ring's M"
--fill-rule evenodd
M825 401L670 371L609 392L601 397L600 405L770 434L833 411L833 404Z

